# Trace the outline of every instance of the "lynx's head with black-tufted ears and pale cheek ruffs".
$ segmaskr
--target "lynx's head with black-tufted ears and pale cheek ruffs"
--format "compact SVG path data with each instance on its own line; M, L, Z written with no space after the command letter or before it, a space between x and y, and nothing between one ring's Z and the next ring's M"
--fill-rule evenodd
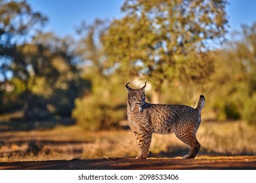
M136 106L139 107L139 111L142 112L142 106L145 103L146 95L145 95L145 88L146 82L144 86L140 89L133 89L128 86L129 82L125 85L127 92L128 92L128 102L131 105L131 111L134 110Z

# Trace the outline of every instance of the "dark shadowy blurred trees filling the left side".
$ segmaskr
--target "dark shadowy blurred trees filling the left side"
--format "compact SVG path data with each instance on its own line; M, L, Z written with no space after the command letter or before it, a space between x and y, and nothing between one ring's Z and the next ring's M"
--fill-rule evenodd
M29 119L71 116L74 99L91 88L75 65L73 39L37 31L47 19L26 1L1 1L0 12L1 113L23 110Z

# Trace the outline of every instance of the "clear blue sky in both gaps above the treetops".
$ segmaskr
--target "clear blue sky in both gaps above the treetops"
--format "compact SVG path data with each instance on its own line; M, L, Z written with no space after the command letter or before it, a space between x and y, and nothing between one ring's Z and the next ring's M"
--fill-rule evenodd
M74 35L75 27L82 21L91 24L95 18L112 20L121 17L124 0L27 0L33 10L48 16L45 29L64 37ZM241 24L256 22L255 0L229 0L226 12L230 31L240 29Z

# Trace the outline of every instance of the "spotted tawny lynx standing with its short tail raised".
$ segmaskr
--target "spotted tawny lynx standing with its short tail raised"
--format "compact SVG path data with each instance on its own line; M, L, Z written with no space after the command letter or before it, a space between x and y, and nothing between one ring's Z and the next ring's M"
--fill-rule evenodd
M183 158L195 158L200 150L196 139L196 131L201 123L201 110L205 97L200 96L196 108L186 105L163 105L146 103L145 88L127 88L127 118L131 130L135 134L140 154L137 159L148 156L152 133L169 134L174 132L176 137L190 146L190 152Z

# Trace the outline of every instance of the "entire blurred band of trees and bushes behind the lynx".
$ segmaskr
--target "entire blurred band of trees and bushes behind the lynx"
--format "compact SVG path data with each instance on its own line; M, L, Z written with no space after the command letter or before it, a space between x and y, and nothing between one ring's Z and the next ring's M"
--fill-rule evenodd
M223 43L226 1L126 0L123 17L95 20L78 39L43 31L26 1L0 0L0 112L72 117L85 129L125 120L125 84L148 80L147 100L194 106L256 124L256 23Z

